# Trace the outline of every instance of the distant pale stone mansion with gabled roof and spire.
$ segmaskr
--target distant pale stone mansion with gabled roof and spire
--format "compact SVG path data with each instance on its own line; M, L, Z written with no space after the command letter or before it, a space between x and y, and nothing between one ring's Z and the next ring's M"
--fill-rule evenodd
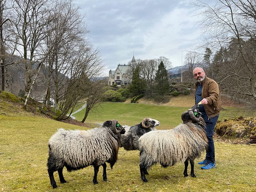
M136 63L134 55L132 57L131 63ZM131 77L130 74L131 66L126 64L118 64L115 71L109 70L108 74L108 85L130 85L131 84Z

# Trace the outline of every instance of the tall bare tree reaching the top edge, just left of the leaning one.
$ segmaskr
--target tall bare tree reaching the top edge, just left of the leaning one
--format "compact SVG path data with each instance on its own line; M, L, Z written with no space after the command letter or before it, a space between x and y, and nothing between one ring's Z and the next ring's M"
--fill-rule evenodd
M45 29L47 34L45 45L47 49L53 47L54 51L48 55L45 64L43 105L46 104L46 100L49 104L50 97L54 97L57 110L58 102L65 94L64 90L68 84L67 76L70 75L71 66L77 62L82 46L84 46L82 50L84 52L86 49L91 49L91 45L88 44L89 41L86 41L88 31L83 21L84 16L79 13L78 7L71 0L55 1L49 17L53 19L50 19L51 22L48 22Z

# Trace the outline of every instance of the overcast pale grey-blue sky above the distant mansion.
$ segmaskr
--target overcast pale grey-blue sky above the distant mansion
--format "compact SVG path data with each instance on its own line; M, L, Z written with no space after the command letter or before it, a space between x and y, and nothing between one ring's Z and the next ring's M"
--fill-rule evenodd
M135 59L169 58L182 64L182 50L199 44L198 16L192 5L177 0L76 0L92 43L110 69ZM186 52L183 51L183 61Z

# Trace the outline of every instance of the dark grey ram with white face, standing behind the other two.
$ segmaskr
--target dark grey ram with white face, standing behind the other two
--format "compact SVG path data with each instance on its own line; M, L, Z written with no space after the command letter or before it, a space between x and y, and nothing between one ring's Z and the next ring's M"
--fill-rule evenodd
M158 120L152 118L144 118L140 124L132 127L125 126L125 134L121 135L121 147L125 150L139 150L139 138L141 135L148 133L149 131L156 130L155 127L160 125Z

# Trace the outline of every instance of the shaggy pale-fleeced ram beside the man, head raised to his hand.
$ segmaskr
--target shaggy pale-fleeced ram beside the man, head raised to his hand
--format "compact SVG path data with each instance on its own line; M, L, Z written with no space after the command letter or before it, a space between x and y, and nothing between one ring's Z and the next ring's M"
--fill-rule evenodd
M194 160L208 147L205 121L200 117L198 106L182 113L183 124L172 130L150 131L139 139L141 179L148 182L145 174L157 163L162 167L184 162L184 177L187 177L188 160L191 165L191 177L194 174ZM197 117L196 117L196 116Z

